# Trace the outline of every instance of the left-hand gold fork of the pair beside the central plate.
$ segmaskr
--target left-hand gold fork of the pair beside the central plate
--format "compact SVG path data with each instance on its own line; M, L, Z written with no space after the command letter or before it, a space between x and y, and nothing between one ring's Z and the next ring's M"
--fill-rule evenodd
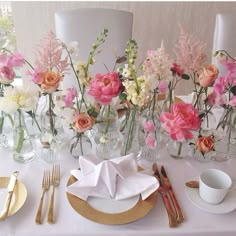
M38 207L38 211L36 214L36 218L35 218L35 222L37 224L42 224L42 207L43 207L43 199L44 199L44 194L45 192L48 191L50 187L50 171L45 170L43 173L43 180L42 180L42 195L40 198L40 202L39 202L39 207Z

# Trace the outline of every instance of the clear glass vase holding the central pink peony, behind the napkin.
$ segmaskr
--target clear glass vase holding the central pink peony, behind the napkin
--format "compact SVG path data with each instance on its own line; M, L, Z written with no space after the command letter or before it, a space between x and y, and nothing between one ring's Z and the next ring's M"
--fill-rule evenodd
M96 155L102 159L119 156L122 135L116 109L110 105L102 106L94 126Z

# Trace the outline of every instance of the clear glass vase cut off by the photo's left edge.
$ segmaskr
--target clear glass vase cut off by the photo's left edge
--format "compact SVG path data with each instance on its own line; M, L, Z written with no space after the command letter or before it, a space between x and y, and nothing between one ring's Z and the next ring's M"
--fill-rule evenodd
M0 148L13 148L13 117L0 112Z

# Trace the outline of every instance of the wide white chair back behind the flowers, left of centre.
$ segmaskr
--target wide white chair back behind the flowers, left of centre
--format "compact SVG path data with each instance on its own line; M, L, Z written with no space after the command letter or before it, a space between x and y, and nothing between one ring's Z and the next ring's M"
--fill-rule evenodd
M117 56L123 56L127 41L132 38L133 14L127 11L81 8L72 11L55 13L56 35L64 43L79 43L79 58L87 60L92 43L104 28L108 29L108 37L96 56L91 72L105 73L106 67L112 71ZM64 79L63 88L76 86L75 78Z

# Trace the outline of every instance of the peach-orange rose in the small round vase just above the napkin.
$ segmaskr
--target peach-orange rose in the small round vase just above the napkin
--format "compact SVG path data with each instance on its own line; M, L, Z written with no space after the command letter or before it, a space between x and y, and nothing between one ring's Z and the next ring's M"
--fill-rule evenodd
M76 121L73 122L72 127L76 132L83 133L89 130L94 125L95 120L87 113L82 112L77 116Z

